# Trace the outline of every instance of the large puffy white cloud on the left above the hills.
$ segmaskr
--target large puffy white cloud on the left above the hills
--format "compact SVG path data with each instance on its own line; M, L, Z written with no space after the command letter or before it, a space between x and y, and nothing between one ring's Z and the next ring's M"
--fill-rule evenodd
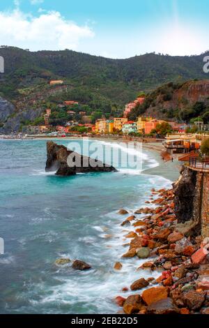
M93 38L88 25L79 26L65 20L59 12L40 13L38 17L26 15L19 9L12 13L0 12L0 44L29 50L77 50L84 38Z

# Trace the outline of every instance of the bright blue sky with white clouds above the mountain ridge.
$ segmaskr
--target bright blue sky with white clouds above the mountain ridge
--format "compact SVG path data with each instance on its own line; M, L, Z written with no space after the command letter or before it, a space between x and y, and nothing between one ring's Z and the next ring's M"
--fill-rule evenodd
M208 0L0 0L0 45L129 58L209 50Z

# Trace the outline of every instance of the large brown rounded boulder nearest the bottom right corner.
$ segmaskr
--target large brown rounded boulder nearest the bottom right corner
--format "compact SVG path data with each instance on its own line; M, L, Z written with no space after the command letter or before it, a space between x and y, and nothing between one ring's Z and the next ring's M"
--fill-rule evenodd
M196 292L189 290L183 293L183 301L189 310L198 310L203 305L206 298L206 292Z

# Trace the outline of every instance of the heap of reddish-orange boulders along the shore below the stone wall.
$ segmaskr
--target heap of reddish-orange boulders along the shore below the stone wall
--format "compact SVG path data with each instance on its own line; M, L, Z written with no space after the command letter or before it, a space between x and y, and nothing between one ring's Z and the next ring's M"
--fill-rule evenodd
M193 182L194 186L188 186L191 198L195 198ZM175 197L175 188L174 192L153 189L146 201L151 206L135 211L121 223L131 228L125 234L130 240L129 250L121 262L127 258L146 259L136 269L140 276L145 271L144 276L150 274L150 278L139 278L124 287L123 296L115 298L123 313L209 313L209 239L203 240L196 230L194 234L187 222L178 223ZM186 201L185 206L190 210ZM130 215L122 210L119 213ZM158 278L153 278L153 271ZM125 297L125 292L132 291L134 294Z

